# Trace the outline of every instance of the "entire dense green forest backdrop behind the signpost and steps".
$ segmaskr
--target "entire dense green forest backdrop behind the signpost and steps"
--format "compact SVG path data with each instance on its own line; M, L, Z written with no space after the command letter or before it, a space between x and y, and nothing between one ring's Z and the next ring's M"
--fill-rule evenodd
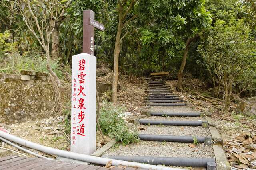
M183 72L219 86L226 108L232 92L255 95L255 0L1 0L0 72L48 71L59 79L82 52L83 10L95 12L98 63L147 76Z

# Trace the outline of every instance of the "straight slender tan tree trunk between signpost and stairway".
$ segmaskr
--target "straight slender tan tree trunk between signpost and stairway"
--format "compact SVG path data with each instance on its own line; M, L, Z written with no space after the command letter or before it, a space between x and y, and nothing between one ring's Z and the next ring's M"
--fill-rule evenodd
M122 11L119 11L119 22L118 22L118 29L116 33L116 42L115 42L115 49L114 49L114 74L113 74L113 82L112 82L112 102L115 104L117 102L117 86L118 86L118 58L120 53L120 39L121 33L123 28L123 21L122 21Z

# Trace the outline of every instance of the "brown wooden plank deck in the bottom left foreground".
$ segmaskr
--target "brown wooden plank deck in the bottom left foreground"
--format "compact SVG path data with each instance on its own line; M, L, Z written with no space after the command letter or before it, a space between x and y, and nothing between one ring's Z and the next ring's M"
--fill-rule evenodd
M0 170L109 170L102 166L62 162L36 157L7 156L0 158ZM139 170L132 167L115 166L111 170Z

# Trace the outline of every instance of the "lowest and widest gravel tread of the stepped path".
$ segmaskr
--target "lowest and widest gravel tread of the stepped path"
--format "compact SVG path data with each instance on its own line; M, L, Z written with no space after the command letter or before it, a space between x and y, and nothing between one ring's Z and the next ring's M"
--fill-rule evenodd
M212 147L205 147L198 144L191 148L188 143L140 141L137 144L126 146L115 146L106 151L106 155L122 156L163 156L163 157L193 157L193 158L214 158Z

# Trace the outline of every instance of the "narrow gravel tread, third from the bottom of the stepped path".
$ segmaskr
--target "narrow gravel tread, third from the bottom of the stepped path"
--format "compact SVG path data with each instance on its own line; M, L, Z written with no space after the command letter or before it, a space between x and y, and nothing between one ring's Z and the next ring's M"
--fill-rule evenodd
M206 120L204 117L166 117L166 116L150 116L143 117L144 120L165 120L165 121L204 121Z

